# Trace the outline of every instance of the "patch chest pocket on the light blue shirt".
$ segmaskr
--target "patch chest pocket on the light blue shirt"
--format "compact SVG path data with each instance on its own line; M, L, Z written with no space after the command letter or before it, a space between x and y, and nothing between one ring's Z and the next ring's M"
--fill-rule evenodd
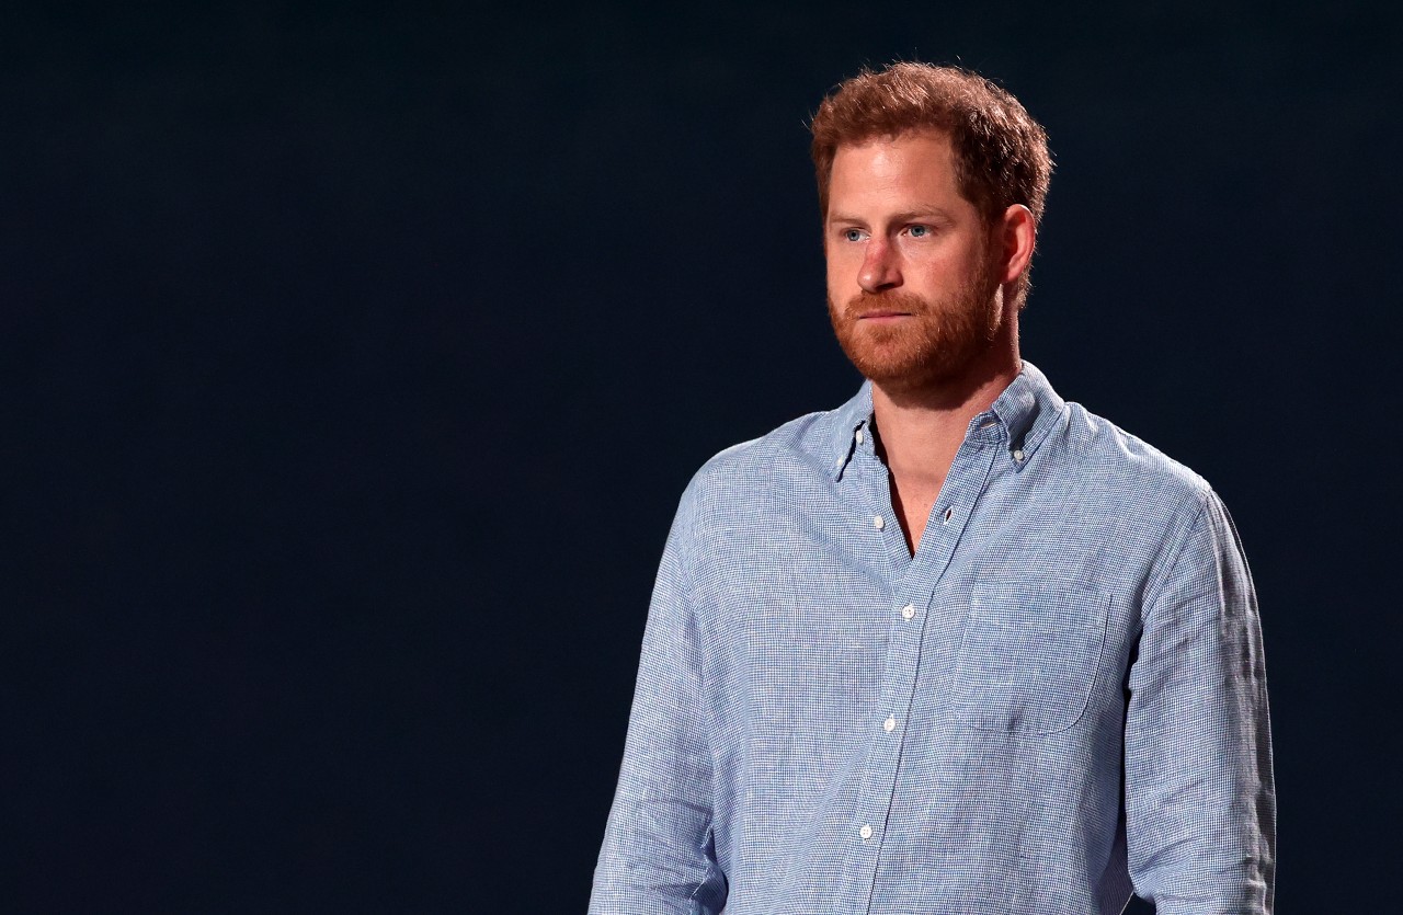
M1076 724L1096 685L1108 605L1073 582L976 584L955 661L957 717L1037 734Z

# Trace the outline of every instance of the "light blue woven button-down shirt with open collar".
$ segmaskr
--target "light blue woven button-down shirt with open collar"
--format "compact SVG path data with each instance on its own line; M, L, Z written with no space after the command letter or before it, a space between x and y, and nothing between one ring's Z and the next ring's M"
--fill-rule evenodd
M1024 363L915 556L866 385L693 477L589 911L1270 912L1274 834L1228 512Z

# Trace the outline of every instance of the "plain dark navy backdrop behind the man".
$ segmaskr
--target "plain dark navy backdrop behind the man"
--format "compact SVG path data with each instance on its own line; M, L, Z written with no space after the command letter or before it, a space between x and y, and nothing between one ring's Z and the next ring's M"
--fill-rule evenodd
M1024 355L1235 514L1281 911L1390 911L1403 32L1208 6L7 6L4 908L582 911L682 487L856 389L804 122L901 56L1051 135Z

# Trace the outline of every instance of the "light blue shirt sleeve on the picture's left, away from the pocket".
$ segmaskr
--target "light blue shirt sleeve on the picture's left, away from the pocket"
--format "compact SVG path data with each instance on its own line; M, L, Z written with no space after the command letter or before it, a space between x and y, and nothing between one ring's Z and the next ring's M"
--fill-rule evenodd
M696 488L682 498L654 585L591 915L706 915L725 904L711 841L702 646L687 601Z

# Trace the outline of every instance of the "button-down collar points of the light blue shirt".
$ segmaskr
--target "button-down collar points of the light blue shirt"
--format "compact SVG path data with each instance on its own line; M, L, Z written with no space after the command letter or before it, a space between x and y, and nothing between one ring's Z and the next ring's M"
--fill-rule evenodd
M1031 362L1003 389L993 404L969 421L965 438L988 434L998 425L998 436L1009 450L1009 460L1017 467L1027 465L1061 415L1066 401L1052 390L1045 375ZM829 474L838 480L853 458L856 432L871 424L873 386L863 382L857 394L833 411L833 435L829 446Z

